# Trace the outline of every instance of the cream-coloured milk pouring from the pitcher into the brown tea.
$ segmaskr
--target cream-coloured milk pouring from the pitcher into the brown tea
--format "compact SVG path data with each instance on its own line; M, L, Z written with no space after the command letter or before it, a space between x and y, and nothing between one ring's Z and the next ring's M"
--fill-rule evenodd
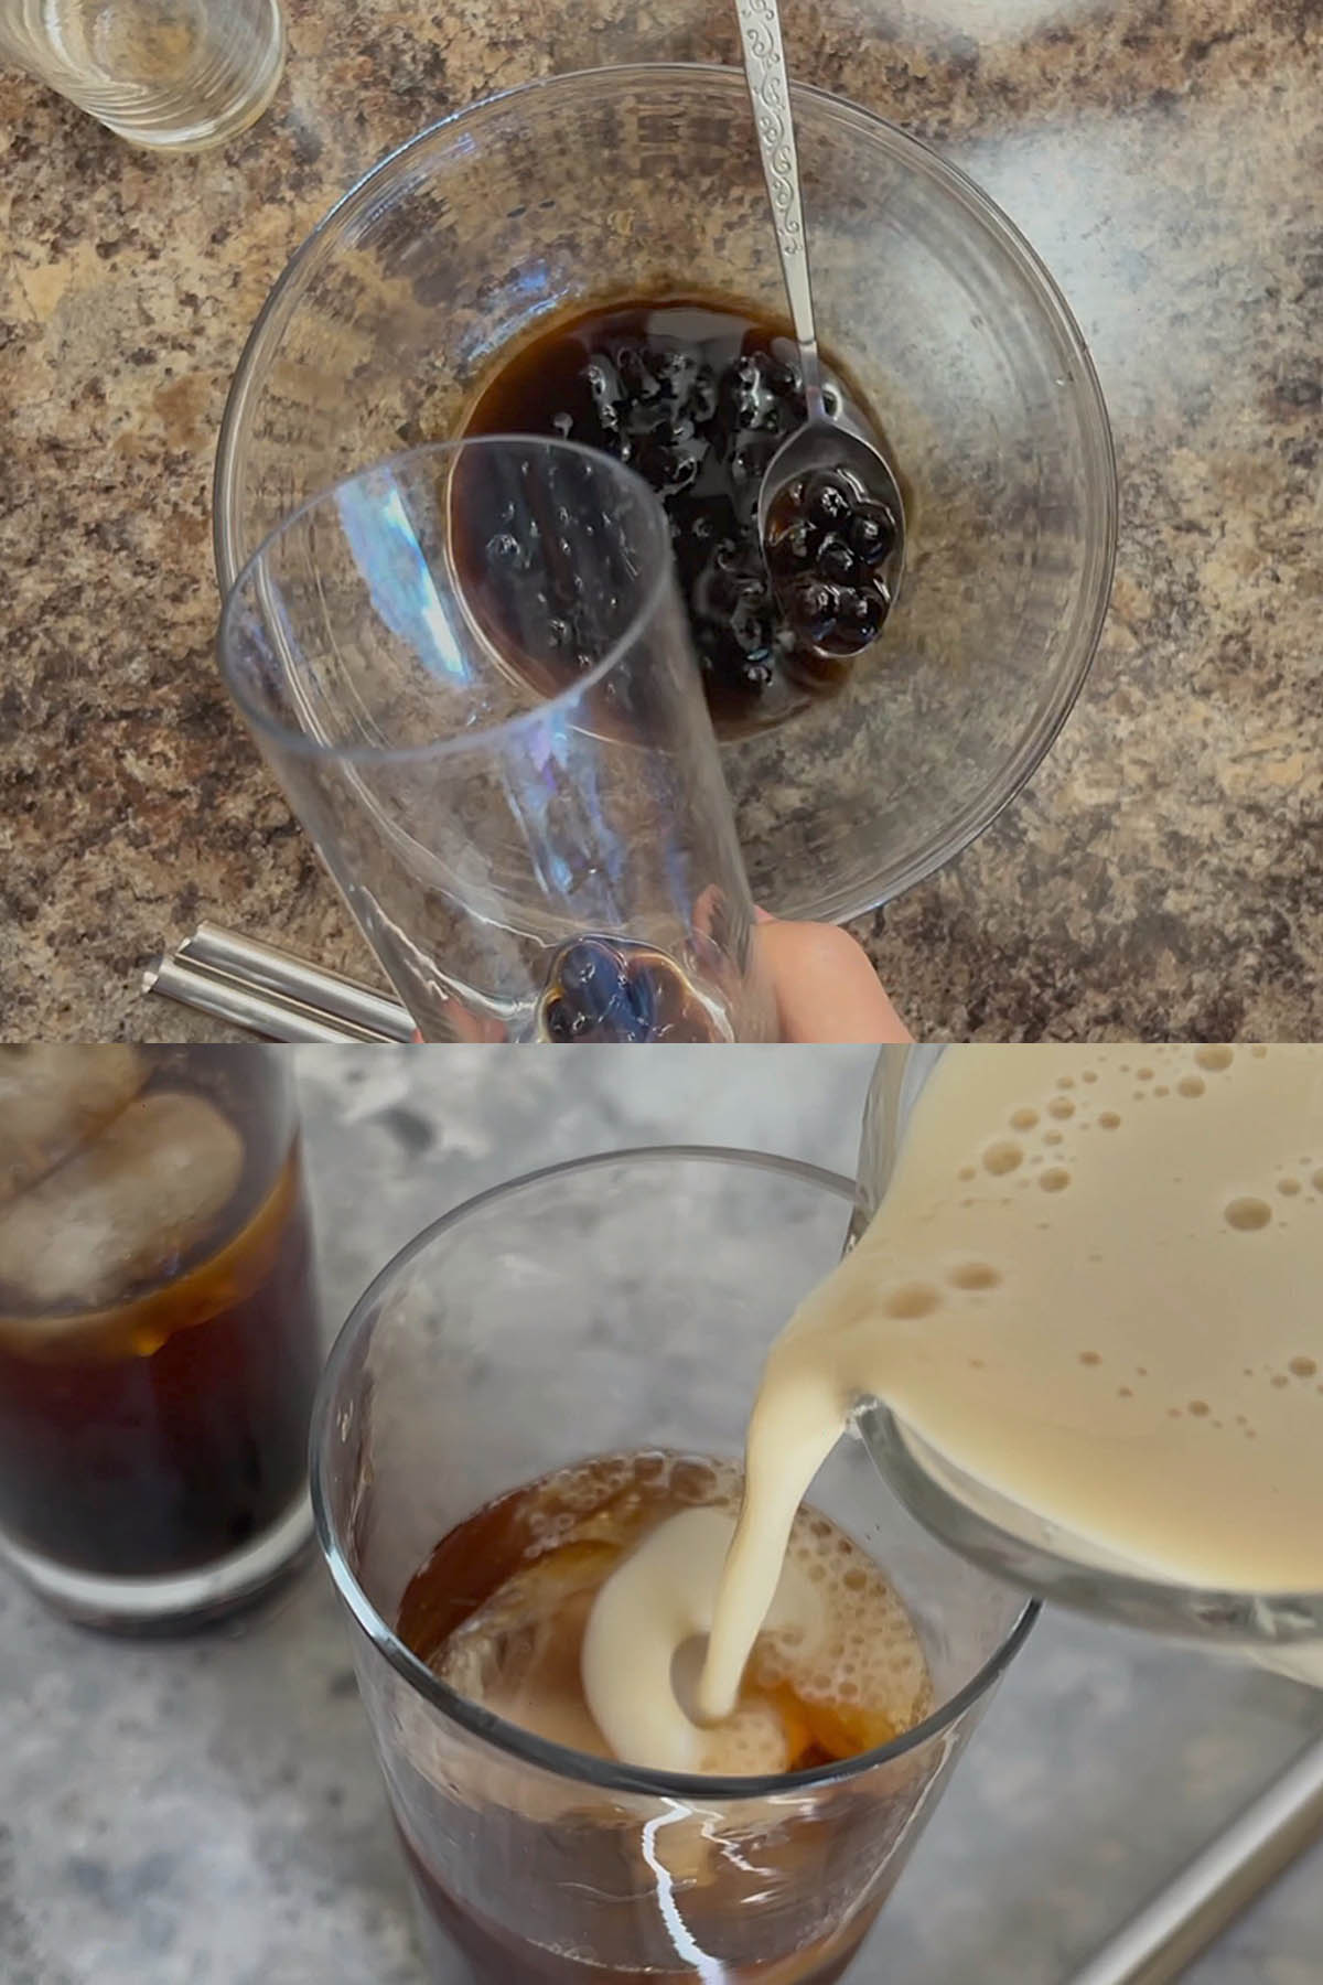
M714 1330L718 1328L714 1320ZM621 1566L585 1650L601 1729L728 1715L795 1511L865 1399L1156 1578L1323 1590L1323 1050L950 1048L885 1203L768 1358L720 1584ZM783 1594L782 1594L783 1604ZM692 1717L659 1650L712 1620ZM688 1731L688 1735L686 1735Z

